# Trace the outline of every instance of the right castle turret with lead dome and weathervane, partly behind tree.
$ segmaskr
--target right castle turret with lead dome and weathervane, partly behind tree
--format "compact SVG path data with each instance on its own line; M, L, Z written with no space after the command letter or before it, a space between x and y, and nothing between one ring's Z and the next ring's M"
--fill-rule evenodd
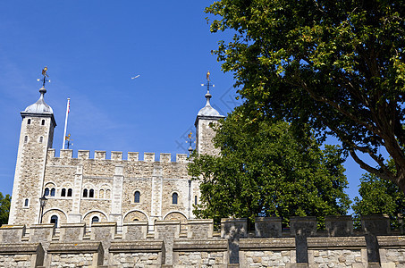
M215 148L213 143L213 138L215 137L215 130L213 127L218 120L224 118L224 115L218 113L218 111L216 111L210 104L212 95L209 93L209 87L214 85L210 83L209 71L207 72L207 84L203 86L207 86L207 103L204 108L199 110L196 122L194 123L197 130L196 149L198 154L201 155L219 155L219 148Z

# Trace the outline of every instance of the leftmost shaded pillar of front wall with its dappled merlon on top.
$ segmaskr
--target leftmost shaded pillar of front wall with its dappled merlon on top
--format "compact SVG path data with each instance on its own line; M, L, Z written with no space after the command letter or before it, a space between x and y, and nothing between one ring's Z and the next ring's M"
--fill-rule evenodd
M228 239L230 264L239 264L239 240L247 237L247 219L221 219L221 238Z

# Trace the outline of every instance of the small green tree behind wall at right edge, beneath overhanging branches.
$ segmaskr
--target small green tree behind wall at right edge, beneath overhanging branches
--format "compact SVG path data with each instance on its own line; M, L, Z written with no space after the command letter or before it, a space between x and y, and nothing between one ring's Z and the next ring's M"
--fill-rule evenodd
M394 163L389 161L387 165L393 169ZM352 205L357 216L388 214L395 226L398 214L405 213L405 195L390 180L381 180L375 174L364 174L360 179L359 194L361 199L355 197L355 204Z

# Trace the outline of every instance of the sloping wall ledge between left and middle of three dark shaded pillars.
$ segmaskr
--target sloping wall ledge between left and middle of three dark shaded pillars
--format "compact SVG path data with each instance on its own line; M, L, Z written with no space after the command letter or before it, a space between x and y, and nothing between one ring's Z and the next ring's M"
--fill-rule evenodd
M295 249L295 239L240 239L239 249L240 251L291 250Z

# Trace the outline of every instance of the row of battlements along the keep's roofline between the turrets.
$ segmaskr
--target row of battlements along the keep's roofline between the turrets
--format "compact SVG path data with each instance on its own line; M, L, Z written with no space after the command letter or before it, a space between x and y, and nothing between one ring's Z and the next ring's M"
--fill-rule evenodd
M73 150L72 149L61 149L59 157L55 157L55 149L49 148L47 152L48 159L52 158L62 158L62 159L75 159L73 158ZM84 160L84 159L95 159L95 160L109 160L109 161L129 161L129 162L145 162L145 163L153 163L153 162L161 162L161 163L172 163L172 154L170 153L161 153L159 155L159 161L156 161L155 153L144 153L143 160L139 160L139 152L128 152L127 158L122 158L122 152L112 151L111 158L106 158L105 151L94 151L94 158L90 158L90 151L89 150L78 150L78 156L76 159ZM176 154L176 161L174 163L188 163L187 155L186 154Z

